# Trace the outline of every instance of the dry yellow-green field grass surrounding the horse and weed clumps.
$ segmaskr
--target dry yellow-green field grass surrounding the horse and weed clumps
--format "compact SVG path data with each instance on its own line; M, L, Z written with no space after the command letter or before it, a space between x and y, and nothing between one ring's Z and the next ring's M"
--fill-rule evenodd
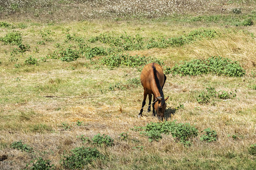
M97 147L107 157L107 160L96 160L86 165L88 169L253 169L256 166L255 156L247 151L256 142L256 92L252 88L256 83L256 43L255 37L250 34L256 34L255 25L228 25L225 28L218 23L202 23L207 25L205 28L219 31L221 36L166 49L127 52L162 59L164 66L170 67L179 61L221 56L240 62L246 69L242 78L167 75L163 88L164 95L170 96L167 112L174 112L180 104L184 105L184 108L175 111L171 121L195 125L199 133L205 128L217 131L216 142L206 143L196 137L192 146L186 147L176 142L172 135L163 135L159 142L149 142L147 137L131 130L134 126L158 122L151 113L144 112L144 117L137 117L143 99L142 86L123 90L112 90L110 87L139 78L139 68L122 66L110 69L99 63L102 56L92 60L78 58L72 62L59 59L43 62L40 58L56 50L57 43L64 48L78 45L75 41L65 42L67 29L70 29L71 35L76 33L88 40L100 33L121 35L124 32L146 38L177 37L201 28L201 25L168 19L98 19L53 25L24 23L27 28L1 28L0 31L0 37L13 30L20 31L24 44L30 44L30 51L15 56L18 61L11 62L10 53L15 46L4 45L0 41L0 156L7 155L6 160L0 161L2 169L24 168L26 163L39 156L51 160L56 169L62 169L60 159L64 152L69 153L80 146ZM51 30L53 41L46 42L46 45L37 44L42 40L42 30ZM108 46L97 43L90 45ZM39 53L34 53L36 47ZM23 64L30 55L39 59L38 66ZM15 63L22 66L16 68ZM196 96L209 86L217 91L236 91L237 96L199 104ZM77 126L77 121L82 121L82 125ZM63 123L70 129L65 129ZM122 132L129 132L127 141L119 138ZM80 135L92 138L98 133L112 137L114 146L98 147L82 143L77 138ZM234 140L232 135L236 135L237 139ZM19 140L33 147L35 153L10 147L11 143Z

